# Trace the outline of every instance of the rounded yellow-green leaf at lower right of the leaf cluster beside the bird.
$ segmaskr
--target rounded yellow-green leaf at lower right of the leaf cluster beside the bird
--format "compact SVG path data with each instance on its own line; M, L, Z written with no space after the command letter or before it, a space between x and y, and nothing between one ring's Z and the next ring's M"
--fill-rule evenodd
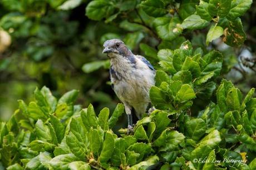
M183 84L175 96L175 101L183 103L193 98L195 98L193 88L189 84Z

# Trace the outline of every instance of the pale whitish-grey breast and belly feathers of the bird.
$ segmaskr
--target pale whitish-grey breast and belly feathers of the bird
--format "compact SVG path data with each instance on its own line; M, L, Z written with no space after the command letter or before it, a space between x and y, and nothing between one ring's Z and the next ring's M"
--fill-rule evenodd
M111 63L111 83L117 97L131 106L150 102L149 90L154 85L155 73L137 58L132 63L124 59L122 63Z

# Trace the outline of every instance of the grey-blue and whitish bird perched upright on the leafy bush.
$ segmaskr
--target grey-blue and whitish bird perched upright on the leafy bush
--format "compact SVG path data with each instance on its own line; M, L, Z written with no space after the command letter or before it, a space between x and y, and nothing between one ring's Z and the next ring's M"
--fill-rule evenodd
M134 55L120 39L104 43L102 53L110 58L111 86L125 106L128 116L128 132L132 131L133 107L140 119L150 105L149 91L155 84L155 69L146 58Z

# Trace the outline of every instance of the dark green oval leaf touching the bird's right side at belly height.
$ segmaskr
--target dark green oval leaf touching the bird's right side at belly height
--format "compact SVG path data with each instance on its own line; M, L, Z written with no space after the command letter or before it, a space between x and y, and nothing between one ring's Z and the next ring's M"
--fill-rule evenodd
M152 104L154 104L157 109L168 109L170 107L168 97L160 91L160 88L152 86L149 96Z

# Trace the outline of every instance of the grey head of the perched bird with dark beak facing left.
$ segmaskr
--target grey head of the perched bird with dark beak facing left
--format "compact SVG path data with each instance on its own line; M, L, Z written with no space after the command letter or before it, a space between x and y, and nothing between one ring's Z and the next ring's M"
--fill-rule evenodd
M107 57L115 57L117 55L130 56L132 54L120 39L109 39L104 42L103 46L102 53L107 53Z

